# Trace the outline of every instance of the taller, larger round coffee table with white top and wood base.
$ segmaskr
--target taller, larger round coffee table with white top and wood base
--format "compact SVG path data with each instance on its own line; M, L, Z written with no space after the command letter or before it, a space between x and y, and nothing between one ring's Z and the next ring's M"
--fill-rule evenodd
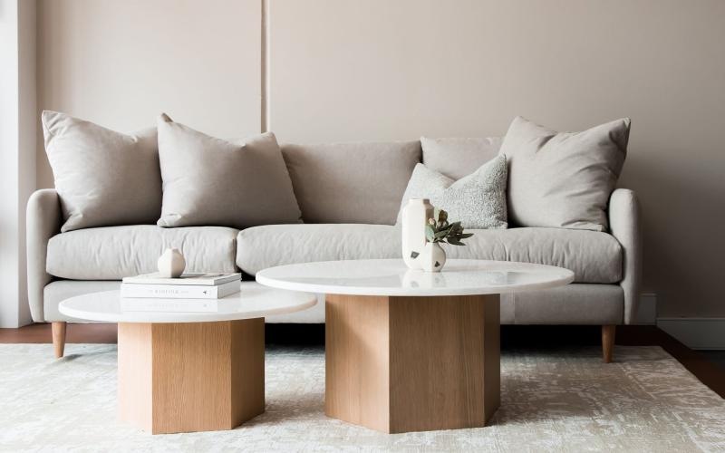
M325 413L395 433L485 426L500 403L498 294L574 273L456 259L426 273L381 259L281 265L256 281L327 294Z

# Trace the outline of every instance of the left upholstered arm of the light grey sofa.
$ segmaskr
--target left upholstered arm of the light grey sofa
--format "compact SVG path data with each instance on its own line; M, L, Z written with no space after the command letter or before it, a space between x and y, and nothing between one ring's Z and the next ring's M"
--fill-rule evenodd
M48 240L61 231L61 200L53 188L36 190L28 199L25 217L28 303L33 321L43 323L43 288L53 277L45 272Z

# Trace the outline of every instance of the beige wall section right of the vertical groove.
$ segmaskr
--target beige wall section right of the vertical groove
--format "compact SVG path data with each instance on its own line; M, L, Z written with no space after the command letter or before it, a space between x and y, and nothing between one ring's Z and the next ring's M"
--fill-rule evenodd
M272 0L269 123L388 140L630 116L646 289L660 315L725 316L723 23L718 0Z

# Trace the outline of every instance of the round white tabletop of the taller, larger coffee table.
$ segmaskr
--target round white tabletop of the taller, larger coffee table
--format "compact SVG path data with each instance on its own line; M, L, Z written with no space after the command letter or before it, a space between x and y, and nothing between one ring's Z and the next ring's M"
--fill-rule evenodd
M574 273L554 265L449 259L440 273L409 269L401 259L280 265L256 274L260 284L310 293L351 295L502 294L563 286Z

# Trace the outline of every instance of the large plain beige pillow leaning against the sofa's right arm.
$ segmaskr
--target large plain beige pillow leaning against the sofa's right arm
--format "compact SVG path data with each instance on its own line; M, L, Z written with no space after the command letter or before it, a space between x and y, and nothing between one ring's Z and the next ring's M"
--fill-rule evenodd
M508 159L511 223L605 231L629 129L629 118L583 132L556 132L514 119L499 151Z

